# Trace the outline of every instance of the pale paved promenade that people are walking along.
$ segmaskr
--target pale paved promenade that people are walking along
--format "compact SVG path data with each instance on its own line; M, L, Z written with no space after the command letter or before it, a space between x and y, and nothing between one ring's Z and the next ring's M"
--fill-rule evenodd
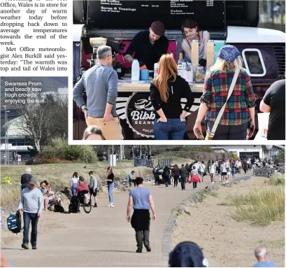
M198 190L210 185L199 183ZM108 199L100 198L99 207L90 214L50 213L64 228L38 235L38 250L20 248L22 233L2 253L14 267L167 267L162 257L162 237L171 210L192 195L191 185L182 191L163 185L148 186L155 200L157 220L151 223L150 246L152 252L135 253L135 232L126 221L128 194L115 197L115 208L108 208ZM41 221L39 223L41 225Z

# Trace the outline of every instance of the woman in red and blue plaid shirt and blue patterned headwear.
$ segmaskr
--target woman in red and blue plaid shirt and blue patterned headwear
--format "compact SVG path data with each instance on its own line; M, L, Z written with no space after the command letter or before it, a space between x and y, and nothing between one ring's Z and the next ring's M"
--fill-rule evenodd
M234 91L227 101L227 94L236 68L240 69ZM241 53L233 45L221 48L215 65L210 68L201 96L201 106L194 125L194 134L199 139L201 121L206 116L208 132L211 132L215 119L222 106L227 105L215 132L216 140L245 140L250 124L251 137L255 130L255 94L250 77L243 69Z

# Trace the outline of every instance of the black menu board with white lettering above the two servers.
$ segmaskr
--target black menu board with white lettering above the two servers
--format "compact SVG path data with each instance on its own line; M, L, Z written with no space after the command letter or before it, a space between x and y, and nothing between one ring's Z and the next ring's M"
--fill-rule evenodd
M99 29L146 29L155 20L166 29L180 29L185 18L198 22L201 29L224 29L224 1L89 1L88 24Z

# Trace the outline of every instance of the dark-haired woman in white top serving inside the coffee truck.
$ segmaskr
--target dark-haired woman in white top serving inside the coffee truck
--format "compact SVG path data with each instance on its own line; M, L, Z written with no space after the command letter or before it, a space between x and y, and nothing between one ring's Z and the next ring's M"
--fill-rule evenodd
M185 52L185 62L192 62L192 41L199 41L199 64L206 66L206 48L208 40L210 40L210 33L208 31L201 31L198 24L194 20L186 19L181 26L183 34L182 48Z

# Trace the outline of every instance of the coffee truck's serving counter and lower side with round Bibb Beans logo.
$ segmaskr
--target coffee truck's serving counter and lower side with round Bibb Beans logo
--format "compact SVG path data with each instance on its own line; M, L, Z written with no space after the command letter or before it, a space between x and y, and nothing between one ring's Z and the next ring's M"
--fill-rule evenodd
M116 111L120 118L124 139L154 139L155 110L150 102L150 83L151 80L134 82L131 81L131 78L118 80ZM185 139L196 139L192 128L200 105L199 98L203 92L203 83L189 84L190 90L194 93L194 104L190 115L186 118ZM182 107L185 106L186 102L187 99L181 99ZM73 101L73 139L82 139L85 128L85 117Z

